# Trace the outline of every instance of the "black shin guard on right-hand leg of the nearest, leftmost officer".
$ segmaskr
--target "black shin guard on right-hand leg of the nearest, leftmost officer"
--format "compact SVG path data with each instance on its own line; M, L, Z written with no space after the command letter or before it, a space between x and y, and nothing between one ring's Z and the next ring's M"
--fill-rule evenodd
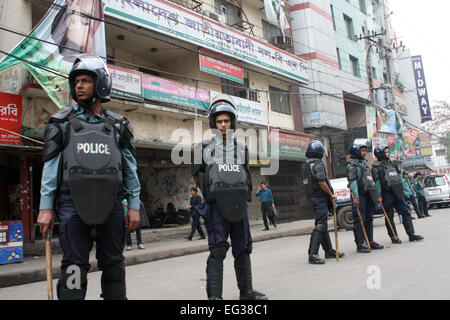
M127 300L125 286L125 262L122 260L103 270L101 277L102 294L104 300Z

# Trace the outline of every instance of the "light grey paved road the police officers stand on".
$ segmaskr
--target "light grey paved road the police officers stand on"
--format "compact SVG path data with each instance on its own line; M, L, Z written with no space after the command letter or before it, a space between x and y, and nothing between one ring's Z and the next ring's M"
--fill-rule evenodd
M430 213L432 218L414 220L423 242L409 242L396 217L401 245L390 243L384 221L376 219L375 241L385 249L370 254L357 254L353 233L339 232L346 256L322 266L307 263L309 236L257 242L254 287L270 299L450 299L450 209ZM127 267L128 298L205 299L207 257L205 252ZM90 273L87 299L99 299L99 293L100 273ZM46 294L46 283L38 282L0 289L0 300L46 299ZM238 298L231 250L224 266L224 298Z

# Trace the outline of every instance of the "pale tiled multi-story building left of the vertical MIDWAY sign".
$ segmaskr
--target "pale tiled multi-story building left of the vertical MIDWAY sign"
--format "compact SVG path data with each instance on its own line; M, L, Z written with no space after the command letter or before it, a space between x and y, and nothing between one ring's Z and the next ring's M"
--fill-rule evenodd
M310 83L300 88L303 125L305 131L328 137L330 173L342 177L350 143L367 137L371 89L390 81L389 59L382 49L384 2L290 3L295 53L308 60L310 68Z

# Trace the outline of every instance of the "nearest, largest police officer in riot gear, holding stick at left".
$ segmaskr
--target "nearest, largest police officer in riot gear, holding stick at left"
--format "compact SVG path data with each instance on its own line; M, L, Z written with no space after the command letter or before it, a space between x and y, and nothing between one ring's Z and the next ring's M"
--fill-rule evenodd
M85 298L94 241L102 271L102 297L124 300L125 234L139 226L140 184L133 131L124 117L102 108L110 100L112 84L99 57L78 56L69 84L76 105L54 114L45 129L37 222L44 236L53 228L55 211L60 222L60 300ZM125 218L124 197L129 204ZM81 276L78 287L70 278L76 271Z

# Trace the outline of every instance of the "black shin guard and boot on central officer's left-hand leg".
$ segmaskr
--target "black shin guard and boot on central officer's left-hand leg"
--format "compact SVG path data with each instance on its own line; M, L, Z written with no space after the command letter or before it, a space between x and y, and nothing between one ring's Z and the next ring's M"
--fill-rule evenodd
M223 260L227 250L225 245L212 248L206 262L206 293L209 300L223 300Z

